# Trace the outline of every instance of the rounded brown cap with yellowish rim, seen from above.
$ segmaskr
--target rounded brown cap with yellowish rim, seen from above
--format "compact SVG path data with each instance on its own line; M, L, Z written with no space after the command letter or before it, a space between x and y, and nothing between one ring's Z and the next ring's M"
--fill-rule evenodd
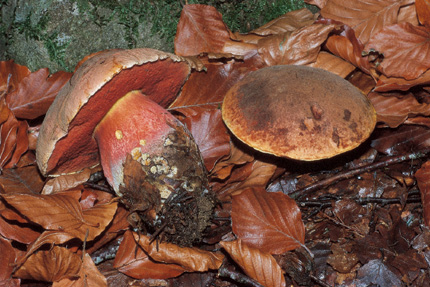
M351 83L295 65L245 76L225 96L222 116L231 132L253 148L307 161L354 149L376 124L370 101Z

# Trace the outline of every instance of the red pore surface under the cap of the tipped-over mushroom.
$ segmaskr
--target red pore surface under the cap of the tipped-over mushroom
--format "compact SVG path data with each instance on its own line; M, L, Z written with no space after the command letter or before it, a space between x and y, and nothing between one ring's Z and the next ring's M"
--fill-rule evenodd
M59 139L43 172L61 174L80 171L99 163L93 131L115 102L131 90L141 90L158 104L167 107L179 93L189 74L185 62L171 59L135 65L122 70L90 97L73 120L68 133ZM91 77L79 80L91 81ZM72 78L70 85L74 85ZM67 105L63 101L62 105ZM126 118L127 111L121 117ZM55 123L54 123L55 124Z

